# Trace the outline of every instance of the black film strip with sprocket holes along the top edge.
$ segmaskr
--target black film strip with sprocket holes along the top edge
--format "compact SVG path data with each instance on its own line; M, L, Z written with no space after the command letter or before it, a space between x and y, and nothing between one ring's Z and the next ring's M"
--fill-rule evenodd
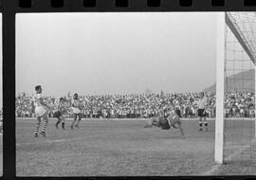
M1 3L0 5L2 5ZM14 0L15 12L250 11L255 0ZM1 6L1 9L3 6Z

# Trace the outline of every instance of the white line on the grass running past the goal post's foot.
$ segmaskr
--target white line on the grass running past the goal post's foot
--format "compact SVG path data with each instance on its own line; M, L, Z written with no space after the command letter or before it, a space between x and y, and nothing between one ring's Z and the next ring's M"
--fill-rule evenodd
M253 139L252 142L253 143L256 143L256 139ZM239 149L237 152L235 153L232 153L230 154L227 158L225 158L225 161L230 161L232 160L236 155L238 155L239 153L242 153L244 151L246 151L247 149L250 148L250 145L247 145L247 146L244 146L243 148ZM203 173L201 173L200 175L212 175L214 171L217 171L219 170L222 166L227 166L227 165L221 165L221 164L216 164L216 165L213 165L210 169L210 171L205 171Z

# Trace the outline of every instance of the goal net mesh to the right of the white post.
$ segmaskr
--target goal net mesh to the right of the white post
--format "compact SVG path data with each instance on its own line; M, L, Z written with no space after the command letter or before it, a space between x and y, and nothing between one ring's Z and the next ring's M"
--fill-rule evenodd
M226 22L224 160L254 166L256 12L227 12Z

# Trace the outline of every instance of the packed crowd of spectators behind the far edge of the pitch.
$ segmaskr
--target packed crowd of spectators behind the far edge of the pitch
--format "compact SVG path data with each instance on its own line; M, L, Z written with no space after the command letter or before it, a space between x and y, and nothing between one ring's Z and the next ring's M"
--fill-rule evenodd
M207 117L215 117L215 93L207 92ZM71 117L69 108L70 94L63 97L67 107L66 117ZM197 101L199 93L159 93L130 95L99 95L79 96L82 107L82 117L87 118L135 118L153 117L160 109L170 110L175 107L181 117L197 117ZM59 99L44 97L49 109L49 117L53 116ZM34 117L32 96L22 93L16 97L16 117ZM227 93L225 95L225 117L254 117L253 93Z

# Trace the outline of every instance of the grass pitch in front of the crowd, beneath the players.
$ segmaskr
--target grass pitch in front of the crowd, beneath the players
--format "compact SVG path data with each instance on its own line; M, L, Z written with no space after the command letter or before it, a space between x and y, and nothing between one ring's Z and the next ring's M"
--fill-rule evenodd
M35 120L16 119L17 176L256 174L256 155L240 161L243 155L235 153L236 142L240 149L249 142L241 154L256 154L251 120L243 127L230 120L226 143L235 155L223 166L214 163L213 120L208 132L197 132L196 120L183 120L185 138L175 129L143 128L144 120L82 120L79 130L56 130L55 122L49 121L46 137L34 137ZM247 135L233 138L241 127Z

